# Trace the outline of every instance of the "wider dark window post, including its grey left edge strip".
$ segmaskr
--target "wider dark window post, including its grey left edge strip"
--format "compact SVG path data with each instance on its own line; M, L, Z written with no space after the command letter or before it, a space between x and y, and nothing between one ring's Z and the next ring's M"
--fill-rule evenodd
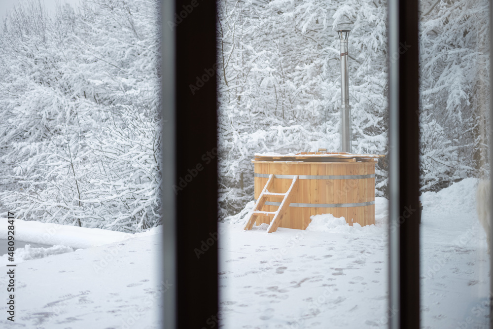
M212 328L218 324L215 1L165 0L161 17L164 325Z

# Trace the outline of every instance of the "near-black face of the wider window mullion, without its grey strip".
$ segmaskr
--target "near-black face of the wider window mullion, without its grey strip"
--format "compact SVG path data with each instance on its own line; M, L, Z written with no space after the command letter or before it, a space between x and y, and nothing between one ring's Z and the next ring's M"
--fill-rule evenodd
M176 33L176 176L164 186L176 195L176 328L210 328L219 318L216 2L175 8L163 25Z

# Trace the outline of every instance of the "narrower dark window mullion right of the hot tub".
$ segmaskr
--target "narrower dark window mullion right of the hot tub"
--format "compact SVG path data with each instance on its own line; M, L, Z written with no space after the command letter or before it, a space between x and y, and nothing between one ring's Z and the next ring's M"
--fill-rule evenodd
M389 328L420 327L418 2L388 2Z

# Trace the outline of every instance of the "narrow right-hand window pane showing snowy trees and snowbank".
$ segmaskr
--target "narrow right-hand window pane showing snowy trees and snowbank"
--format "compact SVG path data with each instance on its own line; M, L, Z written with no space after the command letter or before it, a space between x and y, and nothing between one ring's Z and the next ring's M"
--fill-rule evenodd
M488 1L420 2L423 328L487 328Z

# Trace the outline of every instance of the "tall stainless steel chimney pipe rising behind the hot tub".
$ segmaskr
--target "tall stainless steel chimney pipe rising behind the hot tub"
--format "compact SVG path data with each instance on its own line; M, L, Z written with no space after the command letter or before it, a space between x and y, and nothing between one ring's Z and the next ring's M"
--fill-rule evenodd
M351 153L351 105L349 105L348 37L351 30L339 30L341 40L341 151Z

